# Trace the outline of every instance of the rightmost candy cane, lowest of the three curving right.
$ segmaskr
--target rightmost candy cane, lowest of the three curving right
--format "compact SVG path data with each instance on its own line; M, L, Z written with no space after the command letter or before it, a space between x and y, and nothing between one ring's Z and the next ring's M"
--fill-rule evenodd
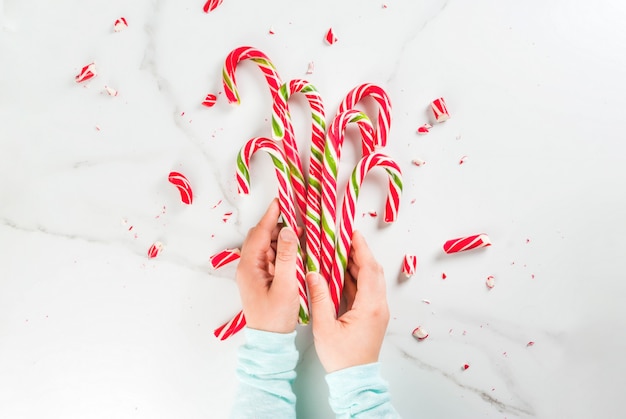
M387 200L385 202L385 221L394 222L398 218L400 208L400 195L402 194L402 172L398 164L391 158L381 153L371 153L359 161L343 197L341 206L341 219L339 220L339 236L335 246L335 260L332 267L330 291L335 308L339 309L341 292L343 290L343 280L348 266L348 255L352 244L352 233L354 232L354 218L356 214L356 203L363 179L375 167L382 167L389 175L389 187Z

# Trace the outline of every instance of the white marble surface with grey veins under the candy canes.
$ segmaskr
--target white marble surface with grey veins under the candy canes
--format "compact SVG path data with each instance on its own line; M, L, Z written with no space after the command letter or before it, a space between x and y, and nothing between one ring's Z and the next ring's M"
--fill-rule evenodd
M246 44L285 80L314 61L306 77L329 114L359 83L391 96L400 220L357 227L388 276L381 360L404 417L623 414L623 2L225 0L208 15L202 5L0 0L0 417L227 415L242 340L212 330L239 302L233 268L213 272L208 258L241 243L275 194L264 159L251 196L233 178L239 147L270 134L270 98L244 64L241 106L199 102L221 91L226 54ZM120 16L129 28L113 33ZM328 46L331 26L339 42ZM77 85L94 60L97 78ZM439 96L452 119L416 135ZM306 108L292 110L304 144ZM190 178L193 205L170 170ZM359 211L380 211L383 195L367 182ZM491 248L442 254L445 240L479 232ZM149 260L155 240L165 250ZM420 266L398 282L405 252ZM427 340L411 336L418 325ZM298 413L326 418L311 342L301 328Z

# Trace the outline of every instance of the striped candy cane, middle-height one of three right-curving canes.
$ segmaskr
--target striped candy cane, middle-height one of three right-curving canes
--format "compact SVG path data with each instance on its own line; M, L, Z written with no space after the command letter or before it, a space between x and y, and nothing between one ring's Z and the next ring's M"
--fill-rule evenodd
M361 130L363 155L374 151L374 128L363 112L349 109L337 115L330 124L324 147L322 168L322 208L321 208L321 273L330 281L335 253L335 232L337 228L337 174L341 148L348 123L357 123Z

